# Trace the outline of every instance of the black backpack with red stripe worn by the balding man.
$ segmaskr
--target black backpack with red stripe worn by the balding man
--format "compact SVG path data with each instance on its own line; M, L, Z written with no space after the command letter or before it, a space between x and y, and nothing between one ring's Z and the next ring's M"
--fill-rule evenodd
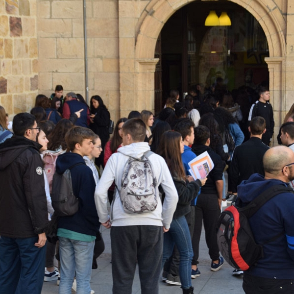
M245 207L238 207L235 203L221 213L217 223L218 245L221 255L232 267L248 270L263 257L264 244L285 234L281 232L263 244L256 244L248 219L272 197L287 192L294 194L290 187L275 185L265 190Z

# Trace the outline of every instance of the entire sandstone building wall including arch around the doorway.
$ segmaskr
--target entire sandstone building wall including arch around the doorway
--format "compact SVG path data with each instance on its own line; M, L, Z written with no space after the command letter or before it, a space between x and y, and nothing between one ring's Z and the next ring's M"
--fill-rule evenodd
M193 0L87 0L89 97L113 120L154 109L154 49L171 15ZM243 6L269 43L275 133L293 103L294 26L290 0L228 0ZM287 45L286 45L287 44ZM0 104L28 111L56 84L86 97L83 0L0 0Z

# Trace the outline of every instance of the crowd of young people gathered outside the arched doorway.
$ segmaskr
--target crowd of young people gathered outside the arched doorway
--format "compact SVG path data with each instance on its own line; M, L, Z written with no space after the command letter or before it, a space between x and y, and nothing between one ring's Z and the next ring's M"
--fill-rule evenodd
M162 281L193 294L192 279L201 270L202 222L210 269L221 269L216 224L222 201L236 199L242 178L236 176L234 149L255 135L269 148L273 111L266 84L256 92L199 89L193 87L185 97L172 90L158 115L130 111L114 129L100 96L87 105L80 94L63 97L61 85L50 98L38 95L30 114L16 115L12 125L0 106L0 294L40 294L43 281L52 280L59 294L72 288L93 294L91 271L104 250L101 224L111 227L114 294L131 294L136 264L142 294L158 294L161 274ZM294 105L277 136L280 144L294 143L286 132L293 121ZM205 151L214 168L195 179L189 162ZM259 167L262 173L262 163ZM54 218L53 174L68 169L78 211ZM139 204L128 197L137 190ZM57 243L46 242L53 220ZM26 239L30 242L19 242Z

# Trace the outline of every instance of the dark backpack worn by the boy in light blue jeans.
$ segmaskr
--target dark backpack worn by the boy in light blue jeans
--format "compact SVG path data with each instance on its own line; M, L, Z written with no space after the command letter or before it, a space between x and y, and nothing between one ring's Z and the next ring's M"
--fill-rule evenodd
M51 201L56 216L73 216L78 211L78 198L73 194L71 175L71 169L77 165L83 164L75 164L64 173L55 172L53 175Z

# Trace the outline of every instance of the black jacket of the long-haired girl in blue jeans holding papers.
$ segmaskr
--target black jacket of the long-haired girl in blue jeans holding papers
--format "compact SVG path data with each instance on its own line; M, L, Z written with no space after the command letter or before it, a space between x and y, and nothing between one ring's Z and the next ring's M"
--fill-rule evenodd
M179 196L179 200L173 214L173 219L176 219L190 212L191 201L196 198L201 187L201 182L198 179L190 183L177 180L175 178L172 178L172 180ZM160 192L163 193L163 190L161 189ZM164 199L164 196L165 195L163 193L162 199Z

